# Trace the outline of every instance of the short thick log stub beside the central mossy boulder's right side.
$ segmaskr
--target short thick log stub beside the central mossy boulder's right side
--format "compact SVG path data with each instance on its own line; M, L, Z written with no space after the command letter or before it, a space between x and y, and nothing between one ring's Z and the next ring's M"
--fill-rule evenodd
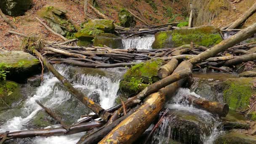
M177 59L171 59L167 64L160 67L158 70L158 77L160 79L163 79L167 77L168 75L171 75L171 73L176 69L178 66L179 61Z

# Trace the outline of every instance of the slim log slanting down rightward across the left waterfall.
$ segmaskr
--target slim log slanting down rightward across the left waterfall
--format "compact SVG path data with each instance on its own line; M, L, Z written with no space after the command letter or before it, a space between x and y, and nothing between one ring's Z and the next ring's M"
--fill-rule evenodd
M47 67L47 69L52 72L59 81L61 81L61 83L65 86L65 88L67 88L70 93L72 93L78 100L83 102L83 104L85 104L85 106L91 109L95 114L99 115L103 120L108 120L110 116L109 112L107 112L105 109L100 107L99 104L96 104L94 101L85 96L81 91L75 89L71 85L71 83L69 83L65 77L57 72L56 69L54 69L53 66L48 62L48 60L44 58L37 50L34 49L33 53L35 53L41 60L43 60L45 67Z

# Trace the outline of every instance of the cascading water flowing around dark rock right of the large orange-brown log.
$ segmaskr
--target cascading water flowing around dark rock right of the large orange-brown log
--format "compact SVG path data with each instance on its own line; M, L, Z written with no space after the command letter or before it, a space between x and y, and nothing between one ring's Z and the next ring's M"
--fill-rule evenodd
M203 123L200 123L200 125L203 125L203 128L205 128L206 132L209 132L201 134L200 139L204 144L213 144L213 141L222 132L218 129L218 126L221 124L219 119L205 110L197 109L189 105L188 102L184 100L184 96L186 95L194 95L196 97L200 97L196 93L190 92L188 88L180 88L173 99L170 101L171 104L165 104L165 108L200 117L200 120L203 120ZM152 137L152 144L167 144L170 142L171 138L176 137L177 133L173 134L174 130L171 126L172 120L174 118L175 116L165 117L163 119L161 126L155 131ZM188 141L187 143L192 143L192 141Z

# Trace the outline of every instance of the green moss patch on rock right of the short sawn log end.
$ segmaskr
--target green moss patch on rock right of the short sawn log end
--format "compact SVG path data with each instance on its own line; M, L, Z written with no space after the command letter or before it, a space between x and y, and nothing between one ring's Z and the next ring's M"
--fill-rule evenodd
M223 92L224 101L231 109L246 109L249 105L249 98L255 93L250 83L246 80L242 82L228 80L225 83L227 86Z

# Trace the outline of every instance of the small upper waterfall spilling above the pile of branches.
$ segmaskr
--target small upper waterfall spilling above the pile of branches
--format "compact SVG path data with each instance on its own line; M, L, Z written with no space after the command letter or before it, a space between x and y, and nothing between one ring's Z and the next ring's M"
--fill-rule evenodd
M122 38L124 49L152 49L151 45L155 41L155 35L147 35L145 37L128 37Z

